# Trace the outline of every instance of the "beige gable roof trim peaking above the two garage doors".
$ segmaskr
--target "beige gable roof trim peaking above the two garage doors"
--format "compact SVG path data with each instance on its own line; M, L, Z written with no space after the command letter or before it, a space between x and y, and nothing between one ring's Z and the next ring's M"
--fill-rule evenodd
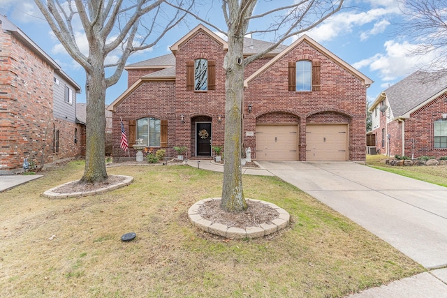
M249 77L247 77L247 79L244 80L244 87L248 87L249 82L251 82L252 80L254 80L258 75L260 75L261 73L263 73L267 68L269 68L270 66L272 66L272 64L274 64L276 61L278 61L279 59L281 59L282 57L284 57L284 55L286 55L288 52L290 52L294 47L296 47L297 45L299 45L300 43L302 43L303 41L306 41L307 43L309 43L310 45L312 45L313 47L316 47L316 49L321 50L321 52L323 52L324 54L328 55L328 57L330 57L331 59L333 59L334 61L336 61L338 64L344 66L344 68L346 68L347 70L349 70L349 72L351 72L353 75L356 75L356 77L360 78L361 80L363 80L363 84L365 84L366 87L369 87L374 81L369 79L369 77L367 77L366 75L360 73L360 71L358 71L356 68L353 68L351 65L349 65L348 63L346 63L346 61L340 59L339 57L337 57L337 55L333 54L332 52L330 52L328 49L326 49L325 47L323 47L323 45L320 45L319 43L317 43L315 40L313 40L312 38L310 38L309 36L307 36L306 34L303 34L300 38L298 38L297 40L295 40L294 43L292 43L291 45L289 45L288 47L286 47L282 52L280 52L279 54L277 54L277 56L275 56L272 60L270 60L267 64L265 64L263 67L259 68L258 70L256 70L255 73L253 73L252 75L250 75Z

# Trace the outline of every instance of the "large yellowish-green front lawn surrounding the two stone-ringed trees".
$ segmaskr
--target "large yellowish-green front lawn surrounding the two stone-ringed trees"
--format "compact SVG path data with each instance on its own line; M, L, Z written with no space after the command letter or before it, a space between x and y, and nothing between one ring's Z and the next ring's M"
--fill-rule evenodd
M424 271L276 177L244 176L244 193L286 209L292 223L253 240L187 220L194 202L221 195L217 172L115 167L108 173L133 184L87 198L40 195L83 168L70 163L0 193L0 297L342 297ZM137 237L120 241L126 232Z

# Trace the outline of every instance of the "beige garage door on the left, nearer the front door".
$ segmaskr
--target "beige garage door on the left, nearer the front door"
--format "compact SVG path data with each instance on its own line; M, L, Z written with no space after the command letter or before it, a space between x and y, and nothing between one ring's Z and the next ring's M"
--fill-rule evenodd
M298 161L298 124L256 126L258 161Z

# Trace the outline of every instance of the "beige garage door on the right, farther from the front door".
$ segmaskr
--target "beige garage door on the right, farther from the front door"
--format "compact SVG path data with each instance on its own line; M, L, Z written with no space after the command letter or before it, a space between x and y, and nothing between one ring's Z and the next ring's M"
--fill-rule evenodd
M306 161L347 161L346 124L307 125Z

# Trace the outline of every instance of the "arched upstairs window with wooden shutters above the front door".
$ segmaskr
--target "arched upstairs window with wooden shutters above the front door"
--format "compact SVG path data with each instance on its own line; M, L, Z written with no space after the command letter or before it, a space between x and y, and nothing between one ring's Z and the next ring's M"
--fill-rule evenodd
M207 59L186 62L186 90L207 91L216 89L216 64Z

